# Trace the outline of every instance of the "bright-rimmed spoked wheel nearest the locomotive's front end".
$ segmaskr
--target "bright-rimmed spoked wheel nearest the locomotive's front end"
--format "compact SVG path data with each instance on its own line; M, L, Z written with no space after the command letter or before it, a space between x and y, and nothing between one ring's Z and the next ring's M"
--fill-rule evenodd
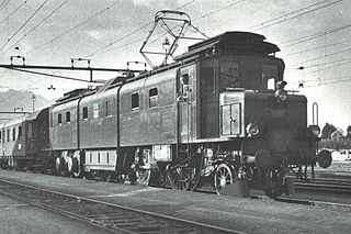
M237 180L236 172L227 164L219 164L214 175L214 187L217 194L220 194L220 189L233 183L235 180Z

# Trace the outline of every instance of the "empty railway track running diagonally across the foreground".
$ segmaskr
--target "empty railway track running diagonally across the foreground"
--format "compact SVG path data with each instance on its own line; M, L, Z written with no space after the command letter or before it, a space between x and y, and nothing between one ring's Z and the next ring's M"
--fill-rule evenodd
M0 193L114 233L242 233L0 179Z

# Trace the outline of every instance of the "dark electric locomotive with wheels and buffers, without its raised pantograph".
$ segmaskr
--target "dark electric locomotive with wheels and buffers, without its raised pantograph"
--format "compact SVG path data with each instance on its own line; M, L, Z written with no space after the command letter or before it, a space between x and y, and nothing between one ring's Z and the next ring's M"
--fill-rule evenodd
M318 127L307 129L306 98L284 90L276 52L262 35L228 32L174 64L66 93L48 110L41 155L60 175L178 189L211 181L217 192L244 179L276 197L288 170L331 158L316 156Z

